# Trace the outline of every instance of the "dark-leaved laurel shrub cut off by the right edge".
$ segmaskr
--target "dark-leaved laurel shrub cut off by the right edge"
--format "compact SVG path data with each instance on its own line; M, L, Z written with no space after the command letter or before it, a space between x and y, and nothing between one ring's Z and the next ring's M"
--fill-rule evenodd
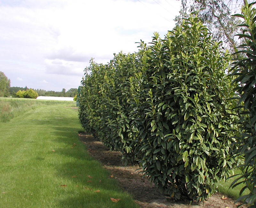
M239 86L235 89L239 93L238 109L239 116L239 137L236 137L235 144L241 144L237 155L244 156L244 163L239 166L241 176L233 181L231 186L234 188L240 183L244 183L244 188L240 191L237 201L245 199L250 208L256 208L256 9L253 4L244 1L242 14L235 16L244 19L243 34L238 34L239 38L244 39L244 44L240 45L238 60L233 62L233 75L237 76L234 80ZM238 182L240 179L242 181ZM248 188L250 194L243 195L243 191Z

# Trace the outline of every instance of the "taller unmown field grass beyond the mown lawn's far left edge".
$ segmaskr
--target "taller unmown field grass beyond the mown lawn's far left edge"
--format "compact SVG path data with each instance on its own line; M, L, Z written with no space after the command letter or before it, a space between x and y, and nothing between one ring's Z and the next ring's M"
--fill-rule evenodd
M45 106L71 106L73 101L0 98L0 122L10 121L25 112Z

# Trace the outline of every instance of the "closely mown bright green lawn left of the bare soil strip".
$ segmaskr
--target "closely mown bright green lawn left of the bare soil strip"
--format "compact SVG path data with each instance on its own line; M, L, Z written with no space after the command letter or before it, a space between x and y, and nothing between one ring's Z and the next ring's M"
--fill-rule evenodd
M0 123L0 207L137 207L88 155L79 130L77 112L67 106L29 110Z

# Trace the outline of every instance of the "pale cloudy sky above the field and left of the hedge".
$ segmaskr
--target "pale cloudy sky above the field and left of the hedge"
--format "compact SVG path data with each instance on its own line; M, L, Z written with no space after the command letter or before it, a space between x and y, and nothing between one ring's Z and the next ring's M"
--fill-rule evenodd
M11 87L78 88L94 58L138 51L175 26L177 0L0 0L0 71Z

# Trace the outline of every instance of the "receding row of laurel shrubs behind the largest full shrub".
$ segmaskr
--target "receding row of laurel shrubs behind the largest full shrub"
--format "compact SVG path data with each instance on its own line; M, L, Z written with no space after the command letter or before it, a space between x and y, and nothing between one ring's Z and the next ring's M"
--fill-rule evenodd
M123 154L123 162L136 161L138 131L133 108L139 105L142 73L148 53L142 42L138 53L114 54L108 64L91 60L81 83L79 118L86 132L99 138L110 150Z

